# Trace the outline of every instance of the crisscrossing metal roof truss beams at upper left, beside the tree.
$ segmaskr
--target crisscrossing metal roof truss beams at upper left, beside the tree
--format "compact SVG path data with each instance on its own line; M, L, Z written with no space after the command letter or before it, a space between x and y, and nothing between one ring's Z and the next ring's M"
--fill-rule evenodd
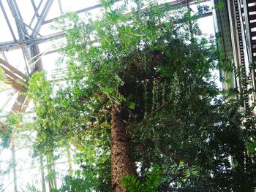
M9 42L0 42L0 52L4 54L5 51L9 50L15 50L20 49L23 52L23 58L25 61L25 69L26 74L23 72L20 72L18 69L15 69L7 59L0 59L0 66L4 69L5 74L8 77L8 80L10 81L10 84L12 85L12 88L15 88L16 90L20 92L26 92L26 83L29 80L29 77L31 77L31 74L34 72L42 71L42 60L41 55L54 53L58 50L50 50L48 53L40 53L38 45L43 42L48 42L52 39L59 39L64 37L64 32L58 32L54 34L48 34L47 36L42 36L40 34L40 29L42 26L52 23L57 18L52 18L49 20L45 20L47 18L48 12L50 12L50 9L53 4L53 0L40 0L38 1L38 4L35 3L34 0L31 0L31 7L34 9L33 15L31 15L31 20L29 23L25 23L23 20L23 15L20 13L20 7L18 7L18 4L16 0L6 0L8 7L4 7L3 4L4 0L0 0L0 8L1 12L4 15L4 18L6 20L7 26L9 28L10 34L12 35L12 41ZM57 0L55 0L57 1ZM120 0L116 0L120 1ZM201 0L203 1L209 1L209 0ZM189 4L195 4L195 0L189 1ZM63 7L61 4L61 0L58 0L59 4L59 11L63 13ZM170 4L173 6L181 5L181 4L187 4L186 0L176 0L171 1ZM86 7L83 9L78 9L76 12L82 13L82 12L88 12L93 9L97 9L101 7L100 4L95 4L91 7ZM15 27L11 25L10 22L10 15L7 15L6 9L10 9L12 12L12 18L15 20ZM205 17L210 16L211 12L204 15ZM17 28L18 37L16 37L15 29ZM59 75L59 74L58 74ZM29 104L29 99L19 94L17 101L12 106L13 112L25 112L26 107ZM0 122L1 123L1 122Z

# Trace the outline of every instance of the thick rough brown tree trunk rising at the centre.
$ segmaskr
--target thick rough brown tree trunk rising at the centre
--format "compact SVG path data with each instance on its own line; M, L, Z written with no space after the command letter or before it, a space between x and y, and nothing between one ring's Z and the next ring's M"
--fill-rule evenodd
M129 139L126 134L121 107L111 111L111 191L126 191L120 180L127 174L135 174L135 166L129 155Z

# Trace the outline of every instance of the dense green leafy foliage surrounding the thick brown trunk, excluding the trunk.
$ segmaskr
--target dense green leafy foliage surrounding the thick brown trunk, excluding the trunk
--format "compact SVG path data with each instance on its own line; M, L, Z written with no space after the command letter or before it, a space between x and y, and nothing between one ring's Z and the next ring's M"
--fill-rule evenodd
M136 180L138 188L157 186L152 191L254 191L255 117L239 99L219 96L211 76L218 53L195 23L208 9L192 16L186 7L127 3L102 1L97 20L59 20L69 80L58 91L42 73L30 80L37 150L72 145L82 170L63 190L83 183L110 191L110 111L119 106L138 168L138 177L124 178L128 189ZM157 164L160 181L147 185Z

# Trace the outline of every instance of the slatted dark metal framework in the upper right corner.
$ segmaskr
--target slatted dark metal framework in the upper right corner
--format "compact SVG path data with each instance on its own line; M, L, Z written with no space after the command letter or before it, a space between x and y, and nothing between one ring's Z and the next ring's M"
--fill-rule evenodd
M223 87L238 88L245 96L249 89L256 86L256 1L255 0L212 0L215 6L224 3L221 9L216 9L215 27L220 32L219 43L225 57L233 60L239 76L223 73L230 82ZM248 85L249 82L249 85ZM244 108L255 101L255 93L244 100Z

